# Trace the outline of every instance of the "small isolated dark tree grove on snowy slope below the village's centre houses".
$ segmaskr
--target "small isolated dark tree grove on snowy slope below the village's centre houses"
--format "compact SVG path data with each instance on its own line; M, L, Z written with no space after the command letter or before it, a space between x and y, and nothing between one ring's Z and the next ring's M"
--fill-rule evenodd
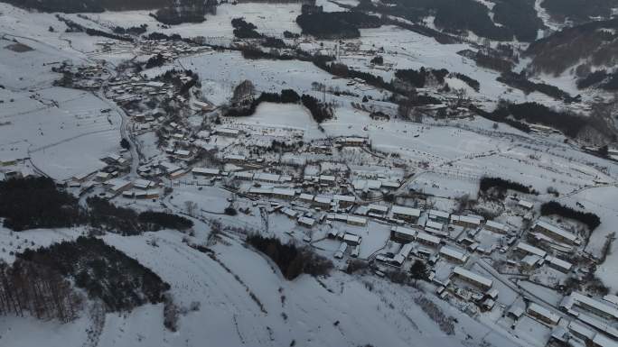
M247 243L275 261L286 279L295 279L303 273L312 276L327 275L332 269L331 260L309 249L298 248L293 243L281 243L275 237L252 234L247 237Z

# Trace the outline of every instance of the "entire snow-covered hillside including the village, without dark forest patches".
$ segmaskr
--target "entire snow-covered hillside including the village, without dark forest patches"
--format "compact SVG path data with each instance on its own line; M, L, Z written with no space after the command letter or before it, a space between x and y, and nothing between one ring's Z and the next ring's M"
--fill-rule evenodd
M332 13L358 2L318 5ZM147 11L42 14L0 4L0 181L44 176L84 211L98 198L193 223L131 235L104 231L104 218L0 226L3 266L25 249L91 235L168 283L179 308L173 331L167 304L106 311L71 278L85 297L77 319L0 312L0 345L545 346L564 331L577 346L611 335L590 322L618 328L612 317L586 320L581 307L561 305L571 291L608 301L604 294L618 290L618 243L608 242L618 152L583 150L581 139L548 126L518 119L524 131L509 125L513 117L487 115L507 102L585 112L598 95L569 104L524 93L462 53L496 42L441 44L392 23L354 39L295 37L299 14L301 4L222 4L203 23L164 26ZM239 17L285 48L235 37ZM320 57L349 75L328 71ZM441 82L429 72L425 86L399 88L398 70L443 68ZM568 76L534 80L578 92ZM247 96L239 96L243 84ZM297 98L282 101L283 90ZM406 114L406 101L422 97L435 101ZM250 115L227 115L243 103ZM483 178L512 186L482 191ZM544 214L549 201L600 224L593 231L572 215ZM286 279L272 250L246 242L253 233L332 261L330 275ZM418 262L427 267L420 280L411 278ZM605 293L589 286L599 279ZM587 324L591 336L573 333L572 323Z

